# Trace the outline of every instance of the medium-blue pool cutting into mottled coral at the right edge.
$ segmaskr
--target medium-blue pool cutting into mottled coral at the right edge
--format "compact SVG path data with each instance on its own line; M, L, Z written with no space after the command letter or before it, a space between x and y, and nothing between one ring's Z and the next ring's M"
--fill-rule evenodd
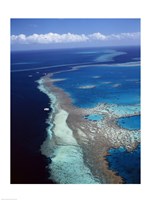
M118 125L122 128L128 130L138 130L140 129L140 115L135 115L131 117L122 117L118 119Z

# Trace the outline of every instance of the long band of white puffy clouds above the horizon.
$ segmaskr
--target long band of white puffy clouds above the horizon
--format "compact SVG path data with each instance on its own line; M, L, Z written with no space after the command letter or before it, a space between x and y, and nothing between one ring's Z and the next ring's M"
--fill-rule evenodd
M47 34L32 34L26 36L24 34L12 35L12 44L50 44L50 43L72 43L72 42L86 42L86 41L107 41L107 40L124 40L124 39L140 39L140 33L120 33L104 35L100 32L85 35L85 34L58 34L58 33L47 33Z

